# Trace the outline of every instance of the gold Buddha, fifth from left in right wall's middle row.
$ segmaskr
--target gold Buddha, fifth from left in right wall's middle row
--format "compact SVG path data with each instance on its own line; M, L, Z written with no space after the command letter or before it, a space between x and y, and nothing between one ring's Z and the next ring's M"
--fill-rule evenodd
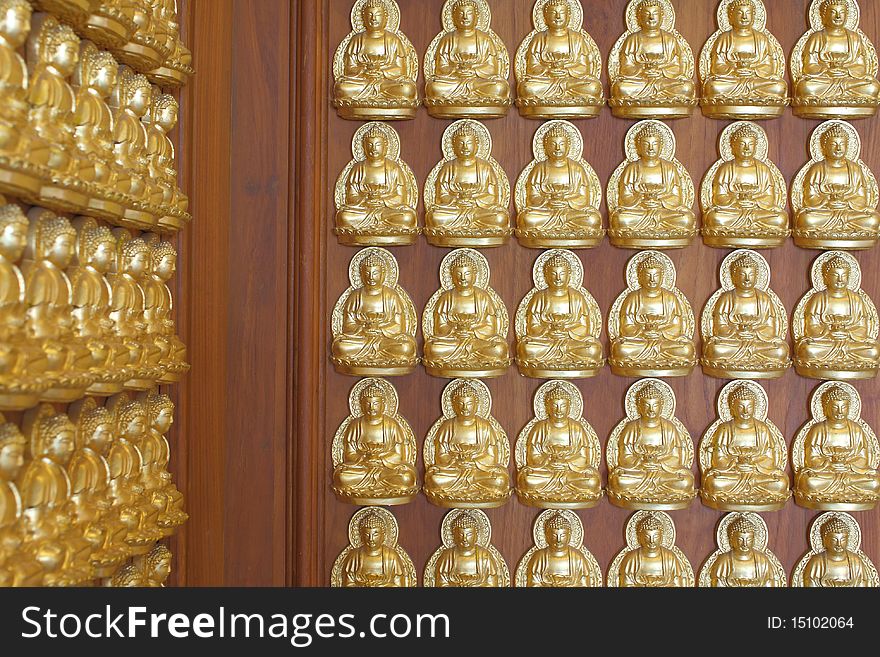
M722 379L776 379L791 365L788 313L770 289L770 265L748 249L729 253L721 288L700 320L703 373Z

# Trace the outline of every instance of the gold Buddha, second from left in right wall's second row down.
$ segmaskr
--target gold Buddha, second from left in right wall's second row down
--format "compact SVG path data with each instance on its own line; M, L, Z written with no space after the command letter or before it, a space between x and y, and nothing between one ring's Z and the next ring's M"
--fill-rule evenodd
M435 246L505 244L510 227L510 181L492 157L482 123L456 121L443 131L443 160L425 180L425 235Z

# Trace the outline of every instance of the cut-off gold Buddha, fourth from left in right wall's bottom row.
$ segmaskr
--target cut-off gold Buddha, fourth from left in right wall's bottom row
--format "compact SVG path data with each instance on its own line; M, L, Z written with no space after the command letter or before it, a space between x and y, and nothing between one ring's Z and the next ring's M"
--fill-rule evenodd
M675 525L663 511L636 511L626 522L626 547L608 567L608 586L694 586L694 570L675 545Z

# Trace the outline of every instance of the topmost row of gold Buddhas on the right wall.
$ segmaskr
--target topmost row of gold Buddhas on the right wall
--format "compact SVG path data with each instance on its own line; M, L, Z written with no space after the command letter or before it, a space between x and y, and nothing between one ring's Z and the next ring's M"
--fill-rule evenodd
M616 116L682 118L699 104L713 118L768 119L790 103L798 116L863 118L880 105L877 53L859 29L856 0L812 0L809 29L785 53L762 0L720 0L716 31L695 62L675 29L671 0L630 0L626 32L608 57ZM356 0L352 31L333 58L334 104L346 119L411 119L424 102L439 118L504 116L510 55L491 28L487 0L446 0L443 31L419 60L400 31L394 0ZM580 0L536 0L534 30L514 59L516 105L530 118L589 118L605 105L603 63L583 29ZM694 82L699 70L700 88ZM701 98L698 98L698 91Z

